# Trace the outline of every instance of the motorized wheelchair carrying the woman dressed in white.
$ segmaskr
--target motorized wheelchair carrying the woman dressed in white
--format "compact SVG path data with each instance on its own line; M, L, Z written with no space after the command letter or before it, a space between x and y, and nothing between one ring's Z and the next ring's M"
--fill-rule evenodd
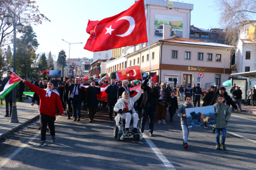
M118 113L114 112L114 115L117 116ZM141 140L142 139L142 133L140 133L140 119L138 120L137 130L138 133L133 132L133 119L131 119L130 126L129 126L129 133L125 133L125 119L122 119L120 117L118 126L114 126L113 134L114 137L117 138L119 141L123 140L124 137L134 137L135 140Z

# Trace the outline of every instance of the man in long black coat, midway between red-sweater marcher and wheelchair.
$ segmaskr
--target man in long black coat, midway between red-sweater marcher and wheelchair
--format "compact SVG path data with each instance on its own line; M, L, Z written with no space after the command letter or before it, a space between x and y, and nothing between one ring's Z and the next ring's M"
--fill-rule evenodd
M88 117L90 123L94 120L94 115L96 113L96 109L98 107L98 99L97 94L101 94L101 88L95 87L95 81L92 81L91 86L87 88L85 93L85 104L88 108Z

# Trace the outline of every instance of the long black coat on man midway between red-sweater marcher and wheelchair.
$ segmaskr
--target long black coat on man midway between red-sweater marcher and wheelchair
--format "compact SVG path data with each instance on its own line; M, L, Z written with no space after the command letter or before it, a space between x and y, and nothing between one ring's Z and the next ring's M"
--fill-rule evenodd
M101 94L101 88L96 88L89 86L86 89L85 93L85 103L87 103L87 108L97 108L98 106L98 99L97 94Z

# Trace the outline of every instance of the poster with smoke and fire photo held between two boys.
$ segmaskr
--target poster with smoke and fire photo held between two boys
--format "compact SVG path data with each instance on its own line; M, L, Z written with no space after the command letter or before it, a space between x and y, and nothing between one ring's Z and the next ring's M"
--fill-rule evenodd
M205 124L216 124L214 112L214 106L186 108L186 121L188 123L188 128L200 127Z

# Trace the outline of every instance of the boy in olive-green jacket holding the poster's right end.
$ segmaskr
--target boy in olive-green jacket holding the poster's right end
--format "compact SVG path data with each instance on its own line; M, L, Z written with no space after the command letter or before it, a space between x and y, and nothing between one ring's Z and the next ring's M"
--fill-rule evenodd
M228 125L231 111L229 106L226 104L225 97L223 94L217 96L217 103L214 104L215 116L216 116L216 149L226 150L226 127ZM221 144L219 144L219 135L222 132Z

